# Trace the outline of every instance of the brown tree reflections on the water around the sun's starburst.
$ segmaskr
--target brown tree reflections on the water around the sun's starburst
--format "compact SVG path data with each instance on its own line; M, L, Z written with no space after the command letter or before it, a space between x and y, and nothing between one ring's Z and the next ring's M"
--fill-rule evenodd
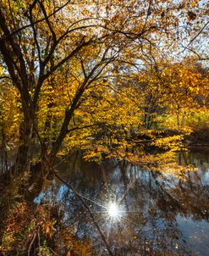
M176 217L208 220L209 190L198 172L190 172L178 181L127 162L110 160L102 167L80 159L69 162L68 169L72 171L68 175L63 172L65 181L73 184L88 202L114 255L192 255ZM65 225L73 227L75 236L91 238L95 255L107 255L82 203L66 186L57 183L53 187L57 197L49 187L47 191L62 205ZM101 208L96 203L107 202L113 195L122 199L126 214L118 223L108 225L107 220L101 219Z

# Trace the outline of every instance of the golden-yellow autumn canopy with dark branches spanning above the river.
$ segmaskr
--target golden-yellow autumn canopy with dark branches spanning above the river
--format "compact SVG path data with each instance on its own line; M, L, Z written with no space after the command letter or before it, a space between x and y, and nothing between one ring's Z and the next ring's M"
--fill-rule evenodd
M165 116L180 129L182 114L207 108L206 6L1 1L2 140L18 149L15 170L30 170L38 144L50 162L63 143L143 152Z

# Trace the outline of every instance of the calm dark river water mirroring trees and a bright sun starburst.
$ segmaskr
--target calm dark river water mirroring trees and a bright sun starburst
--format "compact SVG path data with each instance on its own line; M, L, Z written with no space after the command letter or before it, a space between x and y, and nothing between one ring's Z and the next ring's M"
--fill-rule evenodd
M92 220L69 187L48 181L35 203L55 203L74 236L91 242L91 255L209 255L209 150L179 153L195 170L184 179L115 159L88 163L80 154L58 165L59 175L91 209Z

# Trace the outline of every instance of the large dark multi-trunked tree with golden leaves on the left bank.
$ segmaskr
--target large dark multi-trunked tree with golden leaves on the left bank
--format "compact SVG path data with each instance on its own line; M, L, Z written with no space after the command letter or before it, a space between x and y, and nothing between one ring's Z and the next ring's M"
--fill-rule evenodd
M74 125L74 113L95 88L104 79L114 87L117 77L110 80L111 74L118 76L117 72L145 62L157 45L165 50L177 47L178 39L187 36L188 26L192 31L195 25L197 31L196 20L205 19L206 14L200 12L204 4L1 0L2 78L17 89L23 115L16 170L30 170L31 148L37 141L41 159L53 162L70 131L80 129ZM188 26L182 29L184 19ZM190 37L195 40L191 32ZM49 142L43 134L55 124L56 111L58 125Z

